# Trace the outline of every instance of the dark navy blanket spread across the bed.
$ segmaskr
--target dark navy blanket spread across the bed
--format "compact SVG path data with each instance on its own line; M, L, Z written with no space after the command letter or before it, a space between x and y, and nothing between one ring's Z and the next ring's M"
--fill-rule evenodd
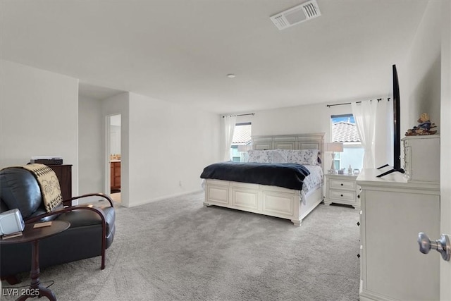
M200 177L302 190L304 178L309 174L309 170L300 164L229 161L206 166Z

